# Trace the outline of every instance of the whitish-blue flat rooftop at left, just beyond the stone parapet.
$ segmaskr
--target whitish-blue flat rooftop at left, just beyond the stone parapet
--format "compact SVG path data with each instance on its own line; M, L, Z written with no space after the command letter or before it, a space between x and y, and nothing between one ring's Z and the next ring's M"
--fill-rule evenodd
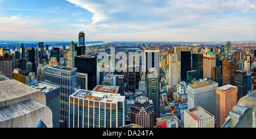
M42 91L43 93L47 93L53 89L59 88L59 86L56 85L52 85L52 84L48 84L46 82L42 82L42 81L38 81L38 82L34 82L32 84L28 84L28 86L38 89L40 91Z

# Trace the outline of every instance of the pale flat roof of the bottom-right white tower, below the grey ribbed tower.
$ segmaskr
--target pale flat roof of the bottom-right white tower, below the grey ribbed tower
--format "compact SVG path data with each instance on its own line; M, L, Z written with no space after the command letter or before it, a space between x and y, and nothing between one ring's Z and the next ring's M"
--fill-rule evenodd
M196 120L204 120L213 116L212 114L205 111L201 107L189 108L189 109L186 109L185 111L187 111L188 114L190 114Z

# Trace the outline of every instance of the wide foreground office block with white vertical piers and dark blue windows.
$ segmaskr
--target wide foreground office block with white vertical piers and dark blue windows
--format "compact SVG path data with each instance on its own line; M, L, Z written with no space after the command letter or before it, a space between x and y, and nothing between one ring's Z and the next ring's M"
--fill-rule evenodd
M125 116L120 94L79 89L69 97L69 128L118 128Z

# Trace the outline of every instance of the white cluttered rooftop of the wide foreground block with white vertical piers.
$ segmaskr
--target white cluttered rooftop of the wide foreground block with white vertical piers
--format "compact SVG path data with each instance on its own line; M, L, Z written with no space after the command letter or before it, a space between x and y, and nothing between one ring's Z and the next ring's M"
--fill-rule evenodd
M120 94L96 92L96 91L82 90L82 89L77 90L77 92L70 95L70 97L77 97L82 99L89 99L92 101L100 101L100 102L108 102L108 103L117 103L117 102L125 101L125 96L122 96Z

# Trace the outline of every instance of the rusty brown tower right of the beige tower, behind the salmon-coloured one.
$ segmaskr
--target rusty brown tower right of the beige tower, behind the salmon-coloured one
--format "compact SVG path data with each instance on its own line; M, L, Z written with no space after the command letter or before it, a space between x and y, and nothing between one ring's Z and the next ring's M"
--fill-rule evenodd
M234 85L234 71L238 70L238 64L230 60L222 60L222 85Z

